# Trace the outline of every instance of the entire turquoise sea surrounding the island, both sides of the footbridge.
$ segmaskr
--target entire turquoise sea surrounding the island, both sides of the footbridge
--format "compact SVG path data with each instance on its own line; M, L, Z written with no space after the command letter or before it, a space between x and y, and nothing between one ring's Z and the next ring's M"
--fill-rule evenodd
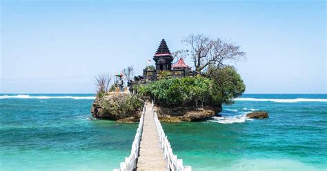
M88 94L0 94L0 170L112 170L137 123L92 120ZM250 111L268 119L246 119ZM327 170L327 95L243 95L222 117L163 123L193 170Z

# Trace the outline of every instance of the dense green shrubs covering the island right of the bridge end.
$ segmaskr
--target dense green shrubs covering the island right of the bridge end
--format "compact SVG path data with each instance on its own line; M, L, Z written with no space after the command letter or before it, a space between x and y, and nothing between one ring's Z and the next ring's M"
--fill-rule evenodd
M246 87L233 67L210 68L206 77L161 79L135 87L141 98L154 98L163 106L221 106L231 104Z

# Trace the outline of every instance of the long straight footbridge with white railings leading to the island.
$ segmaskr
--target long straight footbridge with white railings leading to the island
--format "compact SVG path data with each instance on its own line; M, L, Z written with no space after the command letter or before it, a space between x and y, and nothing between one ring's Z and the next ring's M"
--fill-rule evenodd
M153 110L153 102L144 103L139 127L132 143L130 156L120 163L114 171L153 170L153 171L191 171L184 166L182 159L172 153L172 148Z

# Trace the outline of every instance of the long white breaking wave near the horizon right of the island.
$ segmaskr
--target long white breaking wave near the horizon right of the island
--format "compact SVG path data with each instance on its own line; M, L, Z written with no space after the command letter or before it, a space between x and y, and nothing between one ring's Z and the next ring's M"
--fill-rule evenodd
M236 101L258 101L258 102L277 102L277 103L295 103L295 102L327 102L327 99L258 99L258 98L235 98Z

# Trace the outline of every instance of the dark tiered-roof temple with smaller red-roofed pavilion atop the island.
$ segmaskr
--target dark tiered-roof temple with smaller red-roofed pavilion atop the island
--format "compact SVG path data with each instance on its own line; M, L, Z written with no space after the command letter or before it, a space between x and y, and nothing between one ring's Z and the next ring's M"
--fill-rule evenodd
M155 60L155 68L146 67L143 69L143 80L157 80L160 71L170 71L172 78L181 78L185 76L195 76L198 73L192 71L184 62L183 58L172 64L173 56L170 53L165 39L162 39L153 60Z

